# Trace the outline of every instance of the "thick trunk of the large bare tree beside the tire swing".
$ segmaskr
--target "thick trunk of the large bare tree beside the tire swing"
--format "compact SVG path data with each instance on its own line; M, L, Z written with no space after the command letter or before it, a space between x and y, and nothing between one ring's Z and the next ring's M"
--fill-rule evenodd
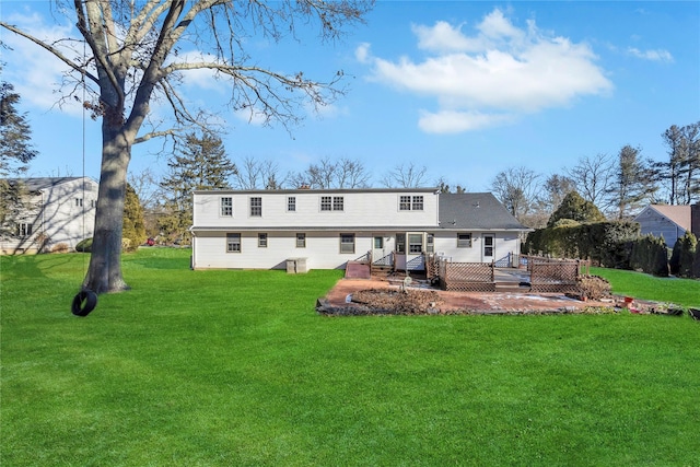
M121 276L121 224L131 145L121 125L104 118L100 195L90 267L83 289L95 293L120 292L129 287Z

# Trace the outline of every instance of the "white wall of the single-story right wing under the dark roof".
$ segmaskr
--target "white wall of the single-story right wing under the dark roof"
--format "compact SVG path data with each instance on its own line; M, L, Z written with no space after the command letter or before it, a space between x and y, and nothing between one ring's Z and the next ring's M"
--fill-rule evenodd
M471 234L471 247L457 247L457 232L435 233L435 254L455 262L490 262L506 258L509 254L520 254L521 241L517 232L468 232ZM483 256L483 236L493 235L493 257Z

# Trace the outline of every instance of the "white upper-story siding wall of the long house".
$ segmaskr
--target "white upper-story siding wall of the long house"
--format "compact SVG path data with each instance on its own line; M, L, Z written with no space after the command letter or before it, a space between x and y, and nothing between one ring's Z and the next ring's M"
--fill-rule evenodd
M322 196L342 197L342 211L322 211ZM399 210L399 196L422 196L423 210ZM233 215L221 215L221 198L231 197ZM262 215L250 215L250 198L262 200ZM295 211L288 210L288 198L296 200ZM271 229L328 226L435 226L438 225L438 195L430 190L416 191L217 191L195 192L194 225L200 227Z

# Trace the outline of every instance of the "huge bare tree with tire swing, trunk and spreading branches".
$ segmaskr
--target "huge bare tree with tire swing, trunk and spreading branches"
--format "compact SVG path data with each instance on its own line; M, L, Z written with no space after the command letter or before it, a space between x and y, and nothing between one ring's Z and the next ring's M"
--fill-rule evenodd
M336 39L346 26L362 22L372 1L281 0L57 0L73 15L86 44L84 56L67 52L4 21L0 26L54 54L73 71L73 91L84 84L91 98L84 106L102 119L102 166L95 236L83 288L96 293L128 289L121 275L121 219L131 147L182 129L207 126L206 115L188 108L178 82L191 70L211 70L231 84L230 106L250 118L284 126L298 122L299 109L319 107L342 92L342 72L327 81L303 72L283 73L257 65L246 51L249 38L272 40L295 36L296 27L316 26L323 40ZM77 38L67 38L74 42ZM180 54L195 48L198 59ZM69 96L66 96L69 97ZM75 95L77 98L80 98ZM170 104L174 126L150 127L152 100ZM189 127L189 128L188 128Z

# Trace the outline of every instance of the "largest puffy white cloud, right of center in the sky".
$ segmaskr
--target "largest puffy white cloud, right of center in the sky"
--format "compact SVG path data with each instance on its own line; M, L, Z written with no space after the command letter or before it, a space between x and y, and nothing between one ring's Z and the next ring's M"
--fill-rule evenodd
M546 34L533 21L517 27L498 9L471 36L446 22L412 31L431 52L422 61L372 57L369 45L361 57L373 65L371 79L435 98L439 109L420 118L424 131L485 128L612 89L588 45Z

